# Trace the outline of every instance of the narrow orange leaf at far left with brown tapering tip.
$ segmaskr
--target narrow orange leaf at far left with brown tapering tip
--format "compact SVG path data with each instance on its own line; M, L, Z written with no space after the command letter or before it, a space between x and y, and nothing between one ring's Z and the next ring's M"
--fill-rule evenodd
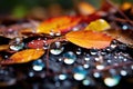
M24 63L40 58L44 53L43 49L25 49L12 55L9 59L2 60L1 65Z

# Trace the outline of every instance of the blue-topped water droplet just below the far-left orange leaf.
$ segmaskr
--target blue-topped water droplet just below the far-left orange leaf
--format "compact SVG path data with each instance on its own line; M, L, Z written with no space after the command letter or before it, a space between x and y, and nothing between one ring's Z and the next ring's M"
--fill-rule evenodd
M41 59L38 59L35 61L33 61L33 70L34 71L41 71L44 68L44 63Z

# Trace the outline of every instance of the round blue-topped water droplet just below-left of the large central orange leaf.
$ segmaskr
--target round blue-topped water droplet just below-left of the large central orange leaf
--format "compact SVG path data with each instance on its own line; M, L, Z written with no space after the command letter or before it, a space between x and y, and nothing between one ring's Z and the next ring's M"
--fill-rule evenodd
M66 63L66 65L72 65L72 63L74 63L74 61L76 60L76 56L73 53L73 52L71 52L71 51L69 51L69 52L65 52L64 55L63 55L63 61L64 61L64 63Z

